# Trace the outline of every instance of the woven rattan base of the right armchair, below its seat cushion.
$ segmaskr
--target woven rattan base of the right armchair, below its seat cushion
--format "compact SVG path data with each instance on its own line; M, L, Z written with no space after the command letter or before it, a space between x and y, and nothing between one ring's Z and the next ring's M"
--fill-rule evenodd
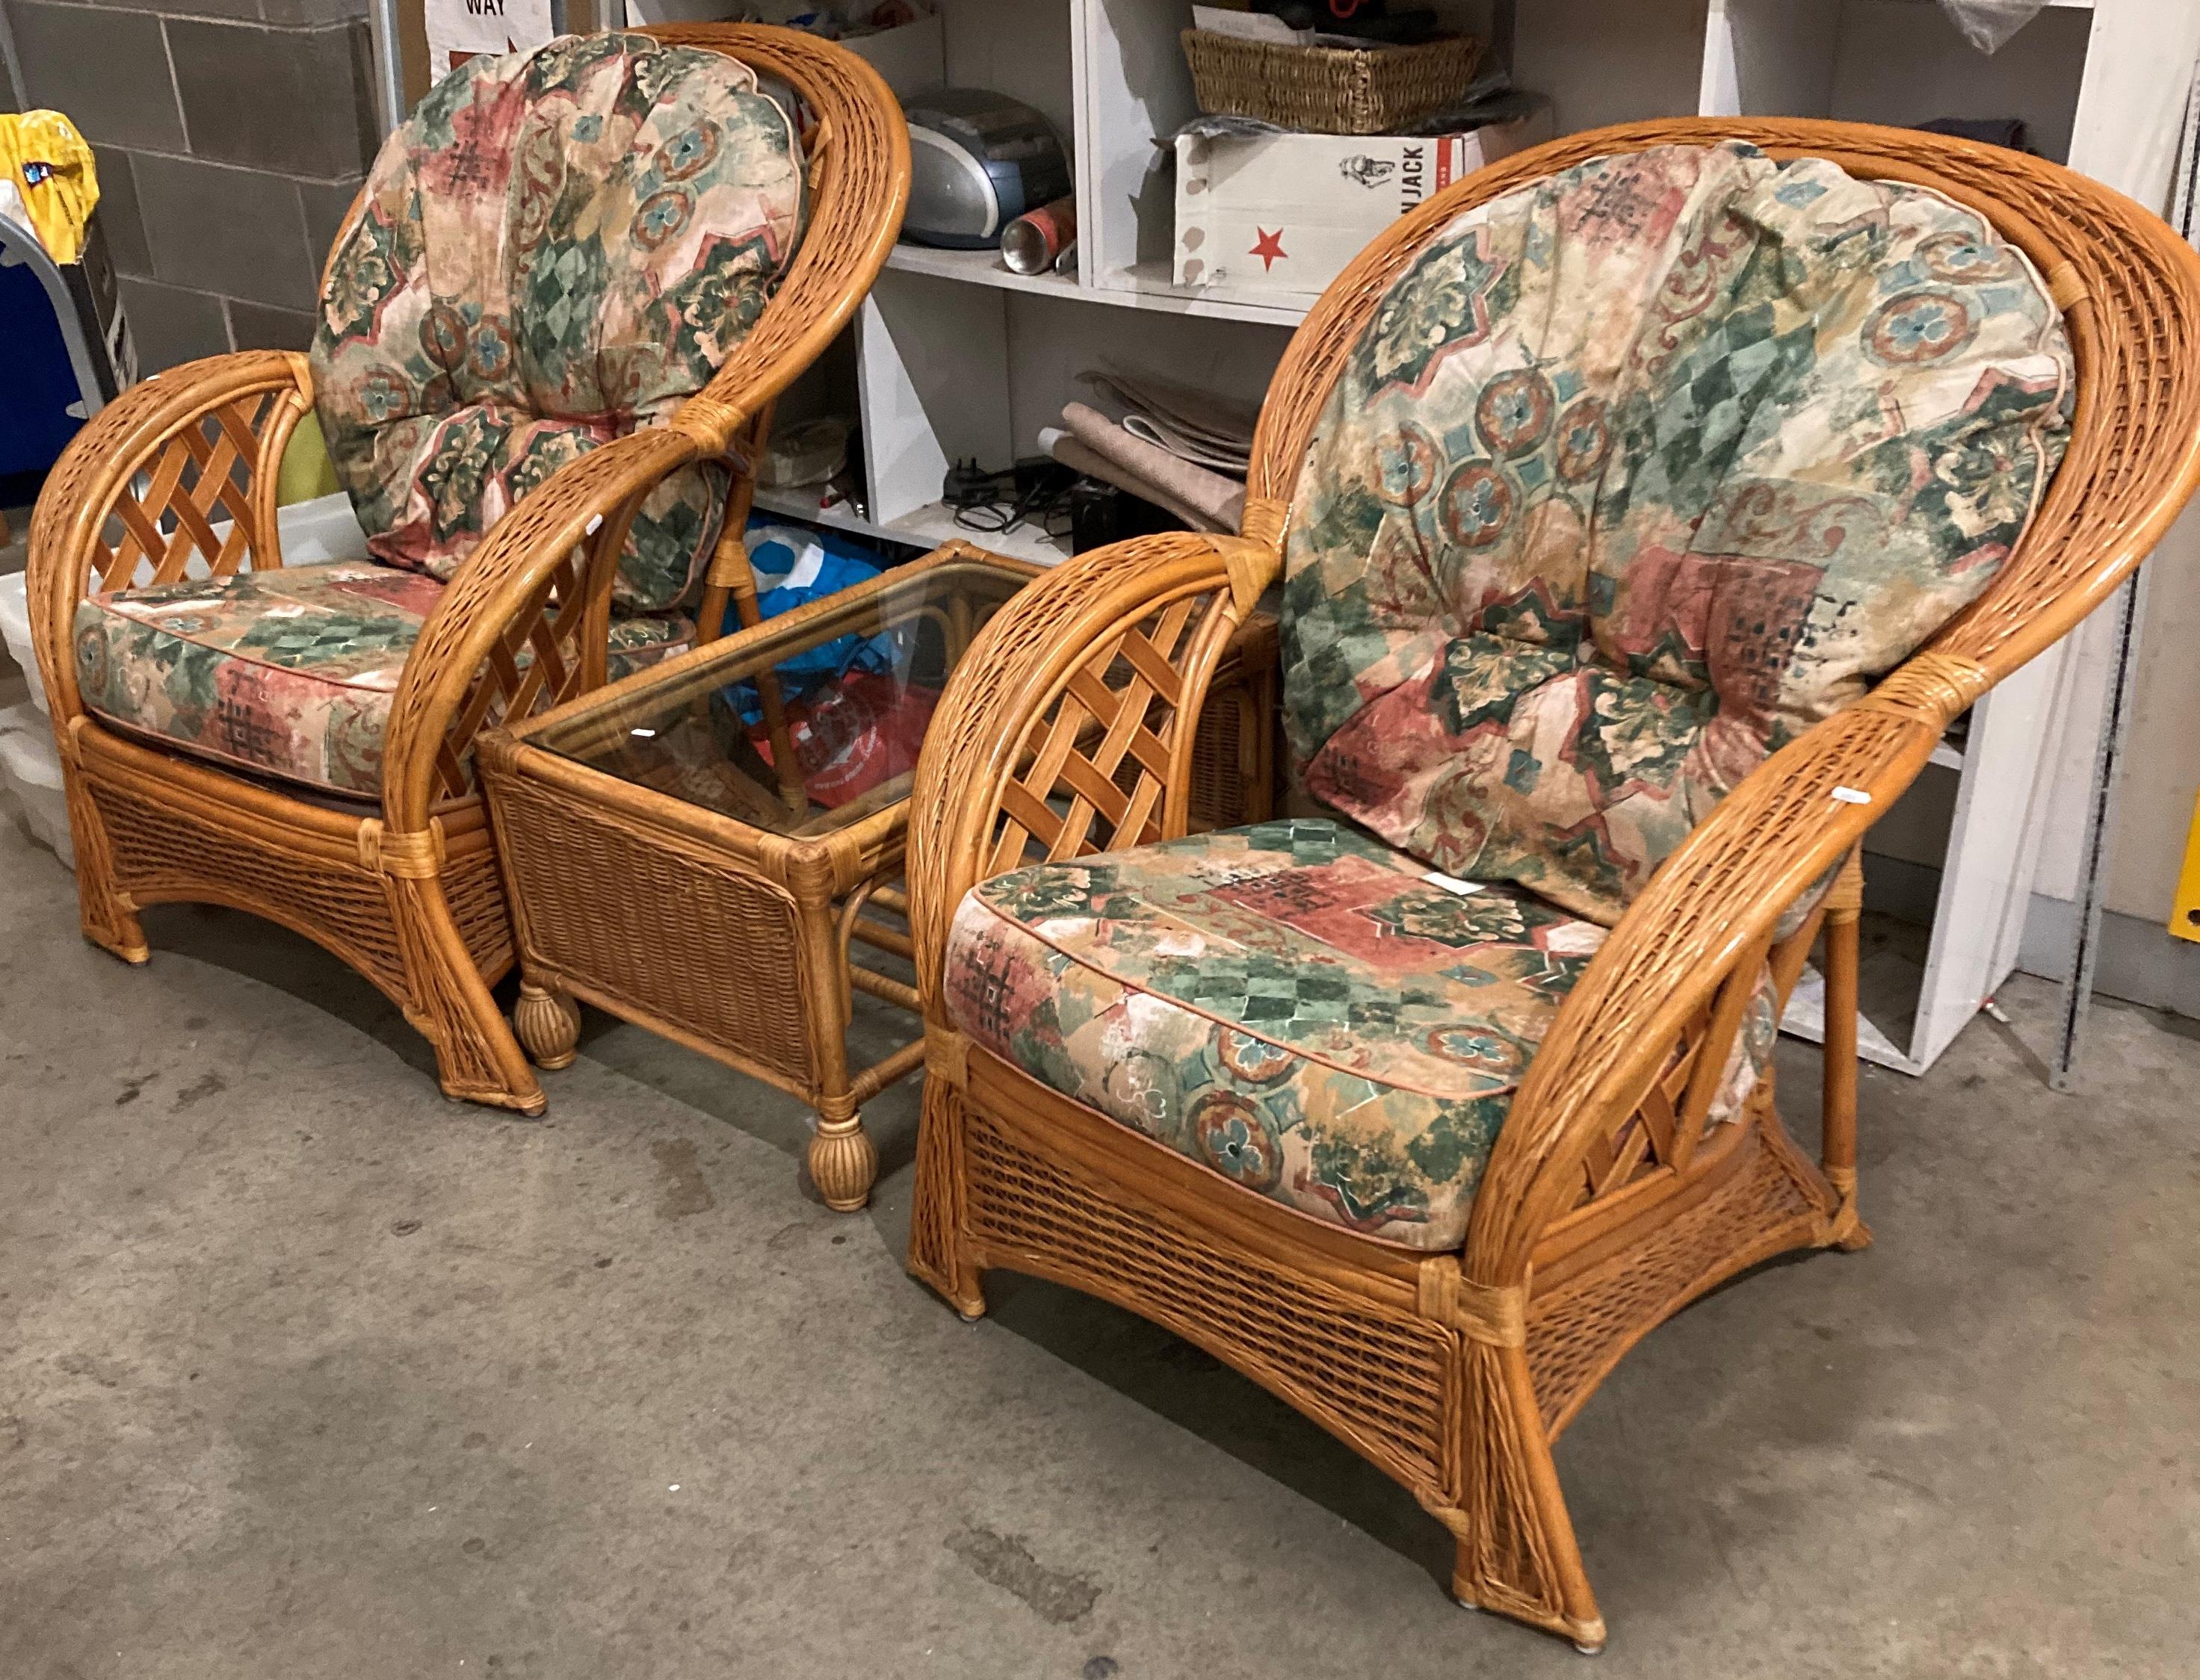
M959 1185L961 1196L946 1192L959 1201L953 1231L913 1240L917 1278L979 1317L983 1273L1021 1271L1199 1344L1443 1522L1463 1603L1584 1649L1604 1643L1604 1623L1586 1583L1569 1592L1571 1528L1536 1460L1547 1469L1549 1445L1621 1355L1705 1291L1778 1253L1868 1240L1786 1137L1767 1080L1692 1174L1639 1196L1624 1225L1555 1245L1525 1300L1518 1346L1492 1346L1459 1306L1456 1253L1302 1218L983 1049L966 1058L964 1086L926 1086L920 1183L933 1194ZM1496 1383L1489 1363L1505 1368ZM1494 1388L1503 1434L1522 1445L1509 1473L1478 1465L1487 1416L1476 1383Z

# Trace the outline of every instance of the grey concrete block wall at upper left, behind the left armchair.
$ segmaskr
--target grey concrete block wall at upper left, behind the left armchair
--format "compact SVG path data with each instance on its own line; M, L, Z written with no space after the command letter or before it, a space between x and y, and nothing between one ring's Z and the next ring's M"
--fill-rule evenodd
M145 372L304 350L374 158L365 0L0 0L22 97L99 156L99 222Z

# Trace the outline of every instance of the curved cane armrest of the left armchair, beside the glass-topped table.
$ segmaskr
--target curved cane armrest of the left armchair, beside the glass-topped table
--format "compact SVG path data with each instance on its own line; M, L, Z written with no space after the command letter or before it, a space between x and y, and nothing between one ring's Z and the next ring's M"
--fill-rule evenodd
M383 814L420 831L471 789L473 737L605 679L612 581L642 497L706 451L671 427L568 462L458 570L398 675L383 734Z

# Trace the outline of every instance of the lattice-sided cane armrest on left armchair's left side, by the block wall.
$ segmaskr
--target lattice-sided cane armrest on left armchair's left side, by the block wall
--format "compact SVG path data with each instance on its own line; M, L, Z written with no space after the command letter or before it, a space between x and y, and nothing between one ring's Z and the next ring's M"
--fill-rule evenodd
M84 710L70 651L84 596L176 583L194 559L216 576L282 565L275 486L310 407L304 356L209 356L139 380L62 451L31 517L26 565L57 723Z

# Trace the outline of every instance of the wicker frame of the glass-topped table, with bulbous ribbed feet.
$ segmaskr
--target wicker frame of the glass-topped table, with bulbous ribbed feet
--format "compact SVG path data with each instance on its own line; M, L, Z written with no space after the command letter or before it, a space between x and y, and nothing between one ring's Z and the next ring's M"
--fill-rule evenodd
M482 783L519 948L519 1042L546 1069L574 1060L576 1003L594 1003L726 1066L766 1080L816 1110L807 1168L829 1207L865 1205L878 1150L862 1104L924 1062L924 1038L871 1066L849 1066L854 992L922 1012L915 987L851 961L862 941L911 957L900 928L869 915L906 913L900 893L906 794L816 836L777 833L662 794L546 745L616 743L649 695L700 668L777 664L856 627L926 572L981 565L1019 585L1045 567L948 543L911 565L799 611L741 629L480 741ZM946 625L957 660L986 618ZM1256 616L1217 677L1195 759L1190 809L1212 827L1258 822L1272 809L1276 622ZM770 723L768 723L770 728ZM774 730L783 741L783 730ZM774 750L783 789L801 809L792 750Z

